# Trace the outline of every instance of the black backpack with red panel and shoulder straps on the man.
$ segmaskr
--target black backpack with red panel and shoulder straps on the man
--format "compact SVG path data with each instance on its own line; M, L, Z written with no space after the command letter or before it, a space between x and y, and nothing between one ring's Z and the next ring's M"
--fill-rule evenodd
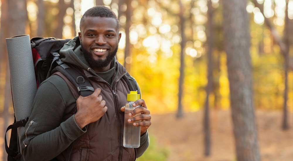
M44 80L54 74L54 72L58 71L61 72L78 89L79 95L86 97L94 92L94 88L92 87L89 80L86 79L86 77L83 76L83 74L81 74L76 68L74 68L70 64L65 64L59 59L60 49L64 46L64 44L69 42L69 40L71 39L57 39L54 37L34 37L30 40L37 88ZM79 44L76 44L76 47L78 45ZM136 80L132 76L130 76L129 73L126 73L122 78L125 80L128 88L131 91L138 91L138 94L141 94ZM67 81L65 82L67 83ZM71 92L73 92L73 89L71 89L70 86L69 89L71 90ZM23 120L16 121L14 115L13 124L9 125L6 129L6 133L8 130L11 129L9 147L7 145L6 133L4 138L5 150L8 154L8 161L23 160L23 157L20 153L20 145L18 144L19 140L17 128L24 127L27 122L28 117Z

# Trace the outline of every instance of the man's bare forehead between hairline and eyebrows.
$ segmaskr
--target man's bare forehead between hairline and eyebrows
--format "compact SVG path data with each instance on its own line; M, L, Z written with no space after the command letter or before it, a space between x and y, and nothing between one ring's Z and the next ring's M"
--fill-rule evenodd
M115 18L109 17L86 17L83 24L84 31L86 30L114 30L118 32L118 24Z

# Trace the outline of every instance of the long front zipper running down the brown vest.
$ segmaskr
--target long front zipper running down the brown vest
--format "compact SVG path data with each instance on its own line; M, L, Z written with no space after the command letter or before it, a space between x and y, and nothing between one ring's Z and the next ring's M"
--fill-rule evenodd
M119 107L118 107L118 103L117 103L117 94L115 93L115 87L117 82L126 74L127 72L123 73L119 78L117 78L117 80L115 80L115 84L113 84L113 88L112 88L112 93L113 93L113 97L114 97L114 104L115 104L115 108L116 108L116 115L118 118L118 123L119 123L119 156L118 156L118 160L122 160L122 130L121 130L121 126L122 123L120 121L120 117L119 117ZM109 85L110 87L110 85ZM110 87L111 88L111 87Z

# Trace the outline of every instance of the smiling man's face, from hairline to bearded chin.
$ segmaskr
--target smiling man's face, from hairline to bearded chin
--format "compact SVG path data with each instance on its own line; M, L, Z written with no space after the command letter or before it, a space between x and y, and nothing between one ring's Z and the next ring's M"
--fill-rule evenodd
M85 59L92 68L110 64L121 38L114 18L87 17L78 35Z

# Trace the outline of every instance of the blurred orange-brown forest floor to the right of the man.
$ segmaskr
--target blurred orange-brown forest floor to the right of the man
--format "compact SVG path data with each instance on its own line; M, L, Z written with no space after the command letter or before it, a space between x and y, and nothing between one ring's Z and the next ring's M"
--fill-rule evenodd
M257 110L258 139L263 161L293 160L293 121L290 129L281 130L282 112ZM235 161L234 136L229 110L211 110L211 155L204 157L203 111L185 113L182 119L175 114L154 114L149 134L168 149L169 161Z

